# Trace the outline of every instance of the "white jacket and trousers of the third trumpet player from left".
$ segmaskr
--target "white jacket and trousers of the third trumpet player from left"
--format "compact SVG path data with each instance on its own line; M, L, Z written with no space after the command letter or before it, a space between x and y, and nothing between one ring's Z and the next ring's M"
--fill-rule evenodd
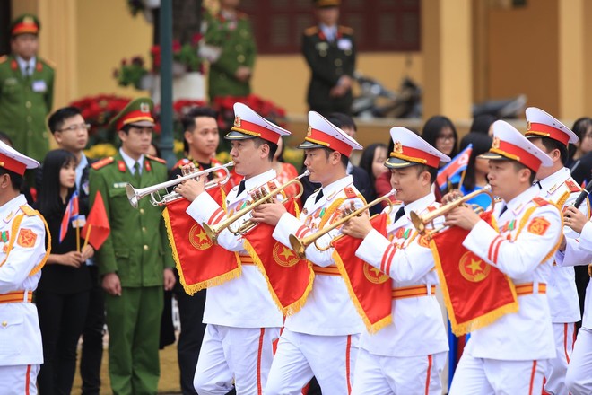
M392 278L393 322L375 334L362 333L353 394L442 392L448 339L434 294L438 275L430 248L420 245L409 219L412 211L424 215L438 206L430 193L406 205L405 215L394 224L401 206L393 206L388 238L372 230L356 250L358 258Z

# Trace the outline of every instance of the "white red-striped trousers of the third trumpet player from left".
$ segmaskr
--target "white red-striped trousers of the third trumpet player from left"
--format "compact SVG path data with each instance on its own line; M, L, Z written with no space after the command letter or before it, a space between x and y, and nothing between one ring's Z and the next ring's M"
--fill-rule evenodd
M447 352L423 356L372 355L361 348L352 395L440 395Z

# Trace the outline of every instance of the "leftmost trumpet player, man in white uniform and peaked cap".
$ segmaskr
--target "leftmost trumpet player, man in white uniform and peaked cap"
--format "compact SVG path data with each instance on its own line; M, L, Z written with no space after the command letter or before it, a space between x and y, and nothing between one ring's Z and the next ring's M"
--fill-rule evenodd
M234 113L234 127L224 138L231 140L235 171L244 180L226 198L229 216L248 206L252 192L262 186L279 187L272 159L281 136L290 135L242 103L234 104ZM193 166L189 164L183 169L190 171ZM203 179L187 180L175 190L192 202L187 214L198 224L219 224L227 215L204 193ZM237 224L247 220L248 215L244 215ZM194 386L199 394L226 394L234 382L239 394L260 394L266 385L273 359L272 343L279 337L283 316L272 300L264 276L244 249L243 239L225 229L217 241L224 249L239 253L242 274L207 291L207 327Z

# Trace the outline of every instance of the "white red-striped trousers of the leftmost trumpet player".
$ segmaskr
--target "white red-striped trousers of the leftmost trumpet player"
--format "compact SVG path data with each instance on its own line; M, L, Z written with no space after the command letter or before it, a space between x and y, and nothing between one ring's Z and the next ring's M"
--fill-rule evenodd
M260 395L274 359L279 328L231 328L208 324L193 385L200 395Z

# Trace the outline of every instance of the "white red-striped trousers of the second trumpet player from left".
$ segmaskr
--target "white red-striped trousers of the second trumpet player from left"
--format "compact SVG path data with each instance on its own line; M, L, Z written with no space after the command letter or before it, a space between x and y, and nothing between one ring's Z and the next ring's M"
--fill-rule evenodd
M323 393L349 394L359 339L359 334L318 336L283 329L264 393L300 394L314 375Z

